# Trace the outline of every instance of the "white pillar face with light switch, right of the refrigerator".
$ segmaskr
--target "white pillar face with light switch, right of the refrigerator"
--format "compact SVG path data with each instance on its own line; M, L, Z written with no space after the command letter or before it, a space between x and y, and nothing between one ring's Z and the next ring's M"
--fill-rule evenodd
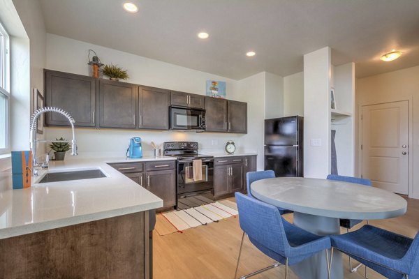
M330 174L330 75L330 47L304 55L304 177Z

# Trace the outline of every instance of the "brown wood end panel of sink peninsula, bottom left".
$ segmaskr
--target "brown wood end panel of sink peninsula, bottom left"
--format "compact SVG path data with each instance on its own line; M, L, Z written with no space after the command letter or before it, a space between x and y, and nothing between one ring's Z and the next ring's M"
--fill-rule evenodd
M149 211L0 239L0 278L142 278Z

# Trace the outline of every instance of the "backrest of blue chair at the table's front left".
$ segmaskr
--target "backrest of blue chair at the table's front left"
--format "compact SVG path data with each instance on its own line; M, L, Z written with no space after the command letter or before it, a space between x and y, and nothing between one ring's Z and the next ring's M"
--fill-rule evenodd
M239 211L240 227L249 238L258 241L263 246L288 255L290 246L286 239L284 225L278 209L265 202L242 193L235 193L237 209Z

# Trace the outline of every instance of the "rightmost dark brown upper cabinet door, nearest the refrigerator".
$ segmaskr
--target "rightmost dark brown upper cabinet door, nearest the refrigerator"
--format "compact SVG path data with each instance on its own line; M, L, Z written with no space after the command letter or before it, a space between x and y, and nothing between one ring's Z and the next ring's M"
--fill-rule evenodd
M228 100L228 132L247 134L247 103Z

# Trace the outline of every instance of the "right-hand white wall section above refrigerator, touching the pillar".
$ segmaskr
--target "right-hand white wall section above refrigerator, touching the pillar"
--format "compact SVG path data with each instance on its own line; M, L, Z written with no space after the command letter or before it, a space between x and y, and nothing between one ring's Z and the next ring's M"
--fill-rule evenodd
M304 116L304 72L284 77L284 116Z

